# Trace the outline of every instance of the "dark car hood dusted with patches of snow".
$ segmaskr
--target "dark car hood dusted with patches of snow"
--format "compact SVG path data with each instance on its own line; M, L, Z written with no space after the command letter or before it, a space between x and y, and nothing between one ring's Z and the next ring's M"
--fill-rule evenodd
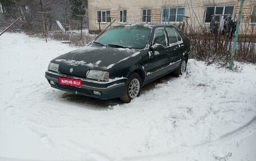
M58 63L59 72L69 75L85 77L90 69L107 71L122 59L132 56L139 49L99 47L90 45L77 49L57 58L51 62ZM73 68L72 73L70 69Z

